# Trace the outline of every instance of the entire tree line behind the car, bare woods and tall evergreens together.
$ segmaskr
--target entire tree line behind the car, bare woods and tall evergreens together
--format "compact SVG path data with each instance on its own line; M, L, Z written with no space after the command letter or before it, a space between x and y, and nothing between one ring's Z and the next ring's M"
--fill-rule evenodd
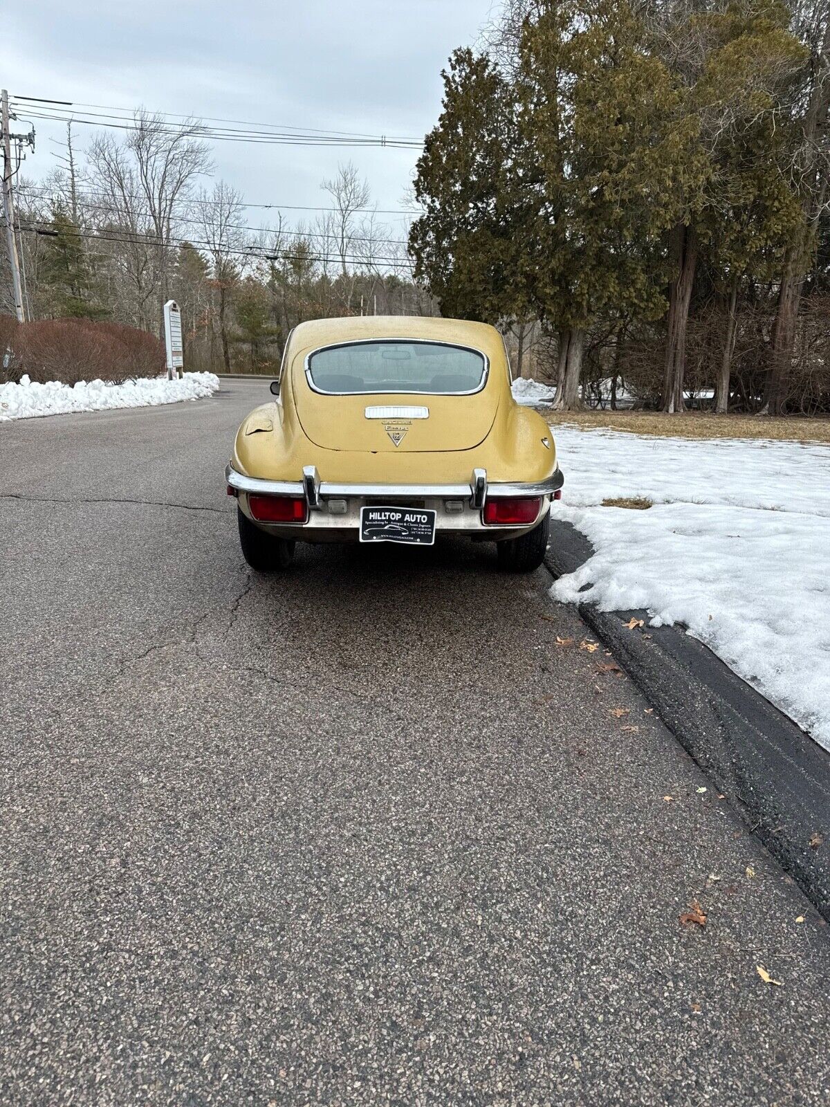
M28 315L158 335L174 298L189 368L268 373L304 319L442 311L496 323L558 407L827 412L829 14L506 0L443 74L408 241L351 163L311 221L257 225L205 187L197 120L138 111L83 151L70 124L15 186Z

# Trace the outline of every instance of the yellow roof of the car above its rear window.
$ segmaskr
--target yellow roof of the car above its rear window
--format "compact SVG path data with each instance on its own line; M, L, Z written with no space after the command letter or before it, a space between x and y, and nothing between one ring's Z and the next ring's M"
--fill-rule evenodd
M343 319L311 319L291 334L291 345L300 350L372 339L421 339L453 342L484 350L492 356L502 348L501 335L489 323L426 315L349 315Z

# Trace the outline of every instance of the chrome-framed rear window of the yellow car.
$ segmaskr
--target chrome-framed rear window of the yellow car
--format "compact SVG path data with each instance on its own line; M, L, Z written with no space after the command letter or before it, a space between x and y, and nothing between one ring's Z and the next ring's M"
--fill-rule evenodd
M423 392L453 395L484 386L487 360L477 350L443 342L377 340L325 346L308 359L312 389L338 395Z

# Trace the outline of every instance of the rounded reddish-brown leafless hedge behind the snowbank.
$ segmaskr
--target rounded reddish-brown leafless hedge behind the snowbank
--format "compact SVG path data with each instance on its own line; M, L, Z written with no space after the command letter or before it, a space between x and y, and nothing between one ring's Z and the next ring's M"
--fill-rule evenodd
M23 323L13 337L15 379L32 381L110 381L121 384L164 372L164 345L155 335L118 323L86 319L48 319Z

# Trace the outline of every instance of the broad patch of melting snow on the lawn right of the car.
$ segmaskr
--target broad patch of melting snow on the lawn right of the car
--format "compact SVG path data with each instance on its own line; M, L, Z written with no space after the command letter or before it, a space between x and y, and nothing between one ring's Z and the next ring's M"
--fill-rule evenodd
M553 430L595 550L553 597L685 623L830 749L830 447ZM654 506L599 506L622 496Z

